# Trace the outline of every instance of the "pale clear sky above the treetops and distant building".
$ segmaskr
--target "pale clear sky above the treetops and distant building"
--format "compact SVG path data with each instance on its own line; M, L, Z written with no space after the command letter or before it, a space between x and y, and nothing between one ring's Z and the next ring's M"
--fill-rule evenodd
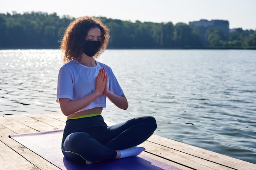
M0 0L0 13L13 11L173 24L228 20L230 29L256 30L256 0Z

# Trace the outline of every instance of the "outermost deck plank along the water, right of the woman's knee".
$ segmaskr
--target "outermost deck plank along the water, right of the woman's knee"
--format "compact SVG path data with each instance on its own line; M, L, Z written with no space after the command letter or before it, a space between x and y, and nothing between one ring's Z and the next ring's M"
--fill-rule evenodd
M253 163L250 163L247 161L243 161L240 159L228 157L226 155L221 155L219 153L215 153L215 152L212 152L209 150L205 150L202 148L184 144L182 142L177 142L175 140L167 139L165 137L152 135L148 139L148 141L160 144L162 146L166 146L168 148L173 148L175 150L179 150L180 152L184 152L189 155L193 155L195 157L213 161L220 165L225 165L225 166L228 166L228 167L231 167L234 169L256 170L256 164L253 164Z

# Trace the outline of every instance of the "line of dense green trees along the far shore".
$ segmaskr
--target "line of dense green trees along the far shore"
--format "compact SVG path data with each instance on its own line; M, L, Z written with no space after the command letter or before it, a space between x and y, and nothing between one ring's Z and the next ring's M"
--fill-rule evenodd
M110 29L112 49L256 49L256 30L218 28L185 23L131 22L99 17ZM0 49L58 49L67 25L76 18L56 13L0 13Z

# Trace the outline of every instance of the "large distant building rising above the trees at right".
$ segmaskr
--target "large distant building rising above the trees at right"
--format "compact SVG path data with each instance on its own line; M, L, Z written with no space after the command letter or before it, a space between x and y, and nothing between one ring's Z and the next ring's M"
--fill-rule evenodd
M213 26L215 28L218 28L220 31L224 33L229 33L229 22L227 20L200 20L200 21L193 21L189 22L189 25L194 26L203 26L205 28L209 26Z

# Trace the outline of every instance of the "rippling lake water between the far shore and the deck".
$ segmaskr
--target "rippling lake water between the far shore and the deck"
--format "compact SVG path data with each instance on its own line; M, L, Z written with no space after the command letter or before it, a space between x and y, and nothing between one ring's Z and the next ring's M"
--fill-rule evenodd
M154 116L156 135L256 163L256 50L106 50L128 99L105 120ZM60 50L0 50L0 115L61 112Z

